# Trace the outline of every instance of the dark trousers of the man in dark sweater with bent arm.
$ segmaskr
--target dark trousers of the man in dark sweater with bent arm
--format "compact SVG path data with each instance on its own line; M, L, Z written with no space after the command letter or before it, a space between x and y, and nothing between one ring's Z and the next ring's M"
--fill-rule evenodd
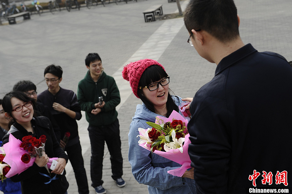
M71 162L78 186L79 194L89 194L86 171L82 157L80 142L65 148Z

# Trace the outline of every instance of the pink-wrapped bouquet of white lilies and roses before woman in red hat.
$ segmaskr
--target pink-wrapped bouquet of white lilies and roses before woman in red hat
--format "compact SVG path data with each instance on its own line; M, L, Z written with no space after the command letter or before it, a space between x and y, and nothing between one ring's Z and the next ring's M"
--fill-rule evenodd
M190 156L187 153L190 143L187 119L174 110L169 118L157 116L155 123L146 123L152 128L138 128L140 134L138 144L159 156L181 164L180 168L168 171L171 175L181 177L191 168Z

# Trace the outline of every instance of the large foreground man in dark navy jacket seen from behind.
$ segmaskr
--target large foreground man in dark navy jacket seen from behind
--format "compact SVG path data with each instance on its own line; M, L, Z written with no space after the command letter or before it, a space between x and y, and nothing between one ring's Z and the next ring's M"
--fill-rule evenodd
M277 172L292 184L289 63L279 54L260 53L242 42L233 0L191 0L184 22L190 34L187 42L217 65L214 78L191 103L187 125L197 194L285 187L275 181ZM267 180L264 172L274 175L269 184L262 182Z

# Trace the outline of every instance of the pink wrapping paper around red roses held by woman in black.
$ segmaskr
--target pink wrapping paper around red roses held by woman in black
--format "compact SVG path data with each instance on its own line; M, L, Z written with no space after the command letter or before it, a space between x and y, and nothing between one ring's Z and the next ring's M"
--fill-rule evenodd
M20 144L21 141L19 139L16 139L12 134L9 134L9 142L3 145L6 154L3 162L7 163L11 167L8 173L5 175L7 178L20 174L32 166L35 162L34 157L31 157L29 163L27 164L21 161L21 156L25 153L29 154L29 152L25 151L23 148L20 148ZM47 163L48 168L50 168L51 162L57 159L58 158L50 158L49 162Z

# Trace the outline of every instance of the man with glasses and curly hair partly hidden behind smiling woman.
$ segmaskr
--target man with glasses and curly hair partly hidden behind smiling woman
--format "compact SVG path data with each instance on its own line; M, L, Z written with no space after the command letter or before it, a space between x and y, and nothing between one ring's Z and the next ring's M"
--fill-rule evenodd
M37 101L37 92L35 84L29 80L21 80L13 86L13 90L21 91L28 97L36 101L34 107L36 116L45 116L51 121L57 140L58 142L60 142L61 139L60 127L58 126L55 118L51 114L49 108L43 105L41 102Z

